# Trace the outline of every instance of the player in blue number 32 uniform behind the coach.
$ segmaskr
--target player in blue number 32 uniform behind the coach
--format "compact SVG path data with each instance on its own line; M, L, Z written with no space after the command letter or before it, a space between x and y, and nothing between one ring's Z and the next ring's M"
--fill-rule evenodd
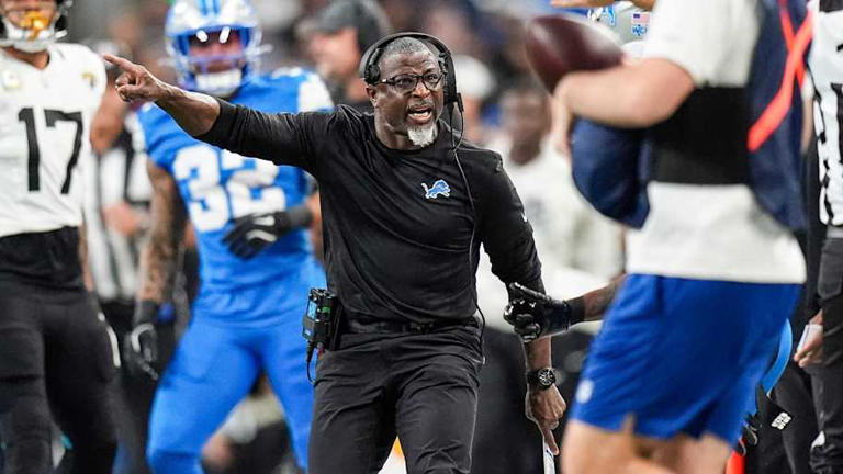
M248 0L177 0L166 35L187 89L267 112L331 108L315 75L258 74L261 33ZM172 287L188 216L202 281L193 319L156 394L149 464L155 473L201 473L203 444L266 371L306 469L312 388L300 325L308 289L325 285L306 234L318 213L311 181L299 168L198 142L153 104L139 120L155 194L126 348L137 372L157 375L155 317Z

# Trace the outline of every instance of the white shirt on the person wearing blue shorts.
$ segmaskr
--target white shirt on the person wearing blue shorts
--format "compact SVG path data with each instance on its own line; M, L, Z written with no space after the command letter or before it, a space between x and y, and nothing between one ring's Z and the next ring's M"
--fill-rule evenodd
M697 89L740 89L750 79L758 30L755 0L659 0L644 56L678 65ZM706 120L711 117L700 117L700 127ZM796 238L761 208L749 185L652 181L648 198L643 227L628 234L629 272L754 283L805 280Z

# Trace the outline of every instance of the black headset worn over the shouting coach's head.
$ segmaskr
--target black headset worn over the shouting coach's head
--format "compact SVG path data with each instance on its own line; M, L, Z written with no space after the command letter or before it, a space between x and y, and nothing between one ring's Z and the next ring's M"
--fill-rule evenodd
M457 75L453 72L453 57L451 56L448 46L436 36L418 32L404 32L380 38L363 53L363 57L360 59L360 67L358 68L360 77L363 78L368 84L375 84L381 80L381 68L378 66L378 61L381 59L386 45L402 37L416 38L423 43L432 45L436 48L438 53L437 59L439 60L439 68L445 75L443 104L446 108L456 104L460 112L462 112L462 97L457 92Z

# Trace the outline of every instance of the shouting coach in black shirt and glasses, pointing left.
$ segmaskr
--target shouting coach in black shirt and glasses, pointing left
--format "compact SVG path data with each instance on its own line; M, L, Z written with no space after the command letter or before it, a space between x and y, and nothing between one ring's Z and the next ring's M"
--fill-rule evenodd
M317 365L311 474L375 473L396 435L411 474L468 473L483 359L481 244L504 283L542 284L501 158L439 120L459 106L447 47L418 33L372 45L360 70L374 114L344 105L265 114L106 59L125 71L124 100L155 101L198 139L301 167L319 183L328 287L345 323L339 347ZM526 352L529 370L550 366L547 339ZM550 430L564 408L553 384L531 384L528 410L553 451Z

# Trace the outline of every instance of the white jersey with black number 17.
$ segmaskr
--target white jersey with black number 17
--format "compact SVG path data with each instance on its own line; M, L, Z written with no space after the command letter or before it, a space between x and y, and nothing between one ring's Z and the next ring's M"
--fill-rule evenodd
M81 169L105 69L81 45L48 52L42 70L0 49L0 237L82 222Z

